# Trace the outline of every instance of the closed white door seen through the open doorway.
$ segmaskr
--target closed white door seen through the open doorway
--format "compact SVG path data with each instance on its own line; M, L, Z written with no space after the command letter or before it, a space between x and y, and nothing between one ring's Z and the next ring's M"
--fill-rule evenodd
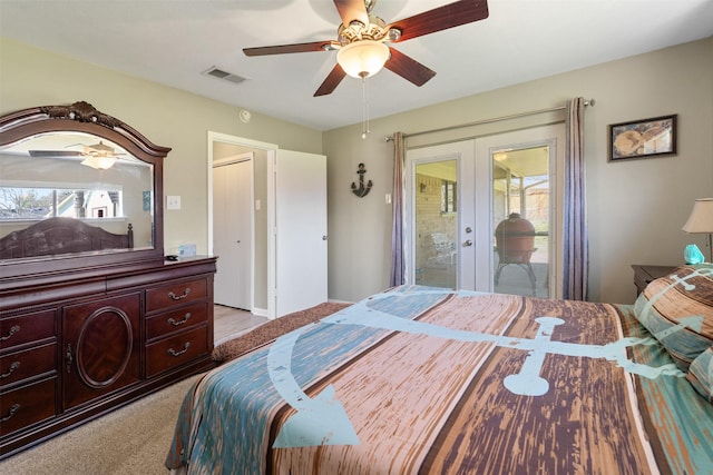
M214 299L252 309L253 154L213 162Z

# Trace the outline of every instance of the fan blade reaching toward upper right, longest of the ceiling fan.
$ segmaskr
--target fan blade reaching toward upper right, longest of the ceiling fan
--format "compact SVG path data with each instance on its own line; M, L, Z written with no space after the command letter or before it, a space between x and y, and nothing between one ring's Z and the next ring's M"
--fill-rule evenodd
M401 30L401 38L398 41L406 41L482 20L488 18L488 14L486 0L461 0L404 18L389 24L389 27Z

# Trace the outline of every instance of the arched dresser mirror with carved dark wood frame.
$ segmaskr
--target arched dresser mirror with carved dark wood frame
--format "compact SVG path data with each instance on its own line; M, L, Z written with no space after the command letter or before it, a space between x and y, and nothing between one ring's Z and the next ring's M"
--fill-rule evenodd
M169 150L87 102L2 116L3 276L163 259Z

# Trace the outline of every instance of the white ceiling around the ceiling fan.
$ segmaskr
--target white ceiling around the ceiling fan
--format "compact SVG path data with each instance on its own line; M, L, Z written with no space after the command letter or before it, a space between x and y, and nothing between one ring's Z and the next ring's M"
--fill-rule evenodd
M372 13L390 22L451 1L378 0ZM369 79L371 118L713 34L713 0L488 4L486 20L392 44L437 76L418 88L379 72ZM335 39L339 23L331 0L0 0L3 37L319 130L362 120L358 79L312 96L336 53L242 49ZM247 80L202 75L214 66Z

